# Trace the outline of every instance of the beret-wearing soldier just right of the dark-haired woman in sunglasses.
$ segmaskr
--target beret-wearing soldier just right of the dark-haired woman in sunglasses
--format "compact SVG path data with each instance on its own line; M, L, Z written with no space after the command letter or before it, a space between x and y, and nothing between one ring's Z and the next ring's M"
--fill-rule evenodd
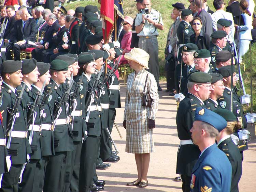
M214 69L216 68L216 60L215 56L219 51L227 45L227 33L225 31L214 31L211 34L212 37L212 46L210 48L211 52L211 64L213 65Z

